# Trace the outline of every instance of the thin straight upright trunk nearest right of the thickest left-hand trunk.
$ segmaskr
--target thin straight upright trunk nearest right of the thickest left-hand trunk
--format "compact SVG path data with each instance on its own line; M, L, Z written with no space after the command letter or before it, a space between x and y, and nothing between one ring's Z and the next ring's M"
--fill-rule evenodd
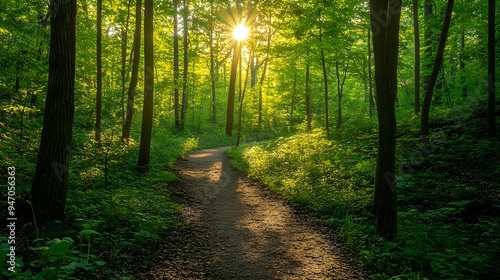
M97 0L97 94L95 116L95 142L101 144L102 119L102 0Z

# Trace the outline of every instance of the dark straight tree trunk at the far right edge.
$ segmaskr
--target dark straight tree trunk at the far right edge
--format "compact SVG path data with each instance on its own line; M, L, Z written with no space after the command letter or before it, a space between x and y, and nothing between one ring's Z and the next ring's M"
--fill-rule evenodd
M488 0L488 137L496 137L495 125L495 0Z

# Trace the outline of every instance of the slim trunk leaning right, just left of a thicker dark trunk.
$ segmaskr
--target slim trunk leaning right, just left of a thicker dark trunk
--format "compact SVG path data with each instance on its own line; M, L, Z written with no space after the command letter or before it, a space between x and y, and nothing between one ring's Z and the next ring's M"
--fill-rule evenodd
M123 126L122 139L126 140L130 137L130 129L132 128L132 116L134 114L134 98L137 88L137 79L139 76L139 62L141 59L141 13L142 0L136 0L135 4L135 30L134 30L134 48L132 61L132 77L128 87L127 97L127 117Z

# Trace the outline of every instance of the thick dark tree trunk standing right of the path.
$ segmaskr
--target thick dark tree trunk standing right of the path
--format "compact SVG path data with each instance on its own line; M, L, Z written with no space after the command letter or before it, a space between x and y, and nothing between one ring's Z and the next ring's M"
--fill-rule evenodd
M370 0L375 94L378 113L378 152L375 175L377 234L392 240L397 234L395 181L397 65L401 0Z

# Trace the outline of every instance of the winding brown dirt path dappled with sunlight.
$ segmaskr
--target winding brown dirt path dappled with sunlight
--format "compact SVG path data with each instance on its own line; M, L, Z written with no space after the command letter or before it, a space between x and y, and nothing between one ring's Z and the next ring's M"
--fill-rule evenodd
M233 170L225 149L178 162L187 226L167 237L141 278L365 278L331 231Z

